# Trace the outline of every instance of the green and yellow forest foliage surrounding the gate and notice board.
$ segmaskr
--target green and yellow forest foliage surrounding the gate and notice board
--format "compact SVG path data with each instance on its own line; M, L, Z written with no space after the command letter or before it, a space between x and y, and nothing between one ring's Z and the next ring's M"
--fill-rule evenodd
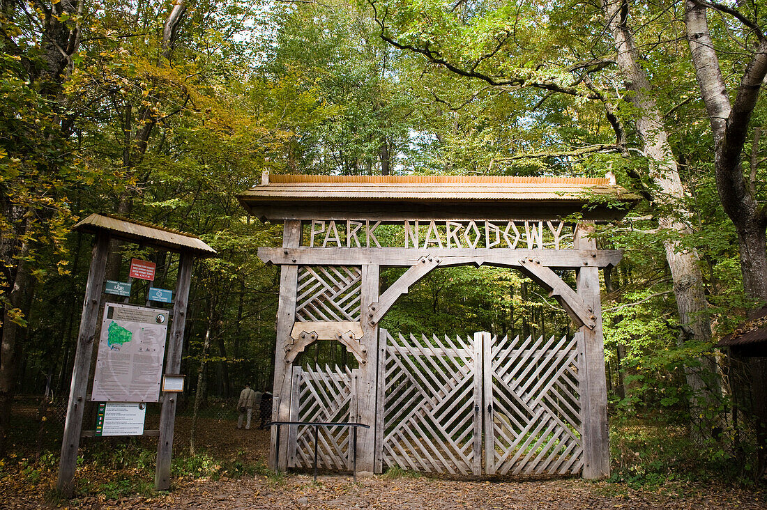
M77 25L80 42L53 74L43 10L7 5L0 15L0 301L4 327L23 331L19 388L42 393L50 379L54 393L67 392L91 252L89 236L69 229L91 212L192 232L218 252L194 267L182 371L200 374L202 384L190 377L189 389L202 400L210 396L207 412L219 413L213 396L231 396L245 380L272 382L278 270L259 262L255 248L280 245L281 227L249 218L235 198L263 170L600 177L611 170L622 185L658 197L597 235L602 248L626 250L603 294L611 413L621 420L647 413L650 422L662 414L674 438L667 446L657 429L621 422L616 479L660 483L691 462L729 472L728 459L751 453L733 446L739 430L726 420L721 440L707 444L701 458L683 439L695 397L685 370L716 356L716 339L755 306L742 291L736 232L716 192L713 141L680 33L683 5L630 5L629 18L641 27L634 33L640 65L680 163L686 195L677 199L650 179L657 169L641 150L641 112L628 100L597 4L206 0L188 5L167 51L168 2L86 2L82 16L62 12L58 20L66 29ZM727 19L712 16L709 23L717 48L726 50L723 68L735 71L725 79L735 84L746 64L742 48L752 41ZM588 150L615 141L606 109L624 127L627 154ZM760 98L752 127L765 116ZM746 150L755 157L763 202L764 137L752 135ZM744 176L750 180L750 168ZM659 217L686 229L670 229ZM685 341L669 246L700 255L711 341ZM157 262L158 285L173 288L176 255L122 249L111 278L126 278L136 256ZM12 302L23 265L29 278L20 288L28 295ZM400 274L384 271L382 289ZM574 285L574 275L562 276ZM143 303L146 285L134 285L133 301ZM484 267L434 271L382 325L393 334L573 332L561 307L532 281ZM354 364L345 351L322 348L312 347L306 359ZM700 413L716 421L733 405L722 400ZM109 469L150 469L152 458L133 443L86 453L87 463ZM46 476L50 462L28 463L25 476ZM280 476L206 454L179 457L173 469L193 477ZM144 490L131 480L94 482L87 490L114 497Z

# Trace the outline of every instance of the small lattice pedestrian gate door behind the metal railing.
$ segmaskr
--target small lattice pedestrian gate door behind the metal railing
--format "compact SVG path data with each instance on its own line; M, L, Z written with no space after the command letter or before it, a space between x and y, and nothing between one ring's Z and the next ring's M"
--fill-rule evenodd
M356 422L357 369L293 367L291 421ZM310 468L314 462L314 427L288 427L288 466ZM351 469L351 434L344 426L319 427L317 466Z

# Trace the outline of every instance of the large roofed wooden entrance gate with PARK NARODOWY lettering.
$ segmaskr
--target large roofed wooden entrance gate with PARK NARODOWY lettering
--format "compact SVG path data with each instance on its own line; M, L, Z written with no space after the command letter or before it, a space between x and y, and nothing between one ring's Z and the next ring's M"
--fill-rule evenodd
M281 248L258 248L263 262L281 266L272 420L298 419L292 368L309 345L334 341L359 367L353 421L370 426L357 440L360 472L380 472L384 463L481 472L485 423L488 472L609 476L599 270L623 253L597 249L595 224L620 219L639 199L611 174L265 173L239 200L250 215L283 223ZM578 222L569 222L574 215ZM480 355L476 338L400 343L382 334L380 321L417 281L436 268L471 264L518 269L559 301L583 340L498 342L492 350L482 337ZM404 271L381 291L384 267ZM574 287L561 271L574 272ZM582 355L572 354L576 344ZM337 446L337 463L344 448ZM299 462L290 451L278 447L273 429L272 467ZM321 462L333 464L331 457Z

